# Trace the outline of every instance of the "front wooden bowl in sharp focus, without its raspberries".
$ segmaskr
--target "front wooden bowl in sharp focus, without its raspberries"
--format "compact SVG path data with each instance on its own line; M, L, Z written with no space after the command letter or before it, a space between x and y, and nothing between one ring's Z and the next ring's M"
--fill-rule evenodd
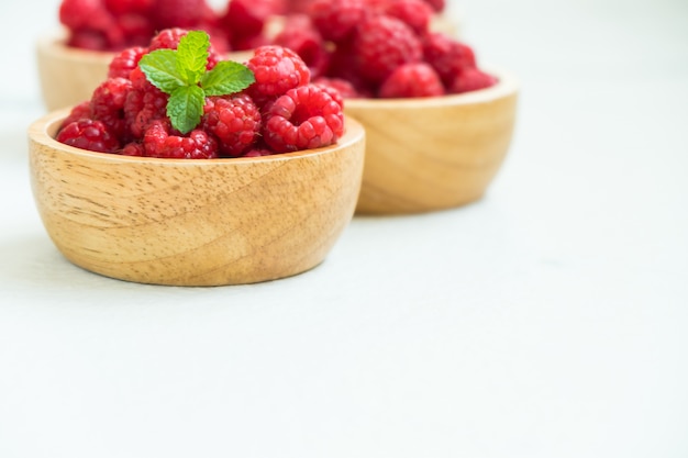
M236 159L92 153L54 139L68 109L29 129L43 224L73 264L121 280L253 283L318 266L353 217L365 132L336 145Z

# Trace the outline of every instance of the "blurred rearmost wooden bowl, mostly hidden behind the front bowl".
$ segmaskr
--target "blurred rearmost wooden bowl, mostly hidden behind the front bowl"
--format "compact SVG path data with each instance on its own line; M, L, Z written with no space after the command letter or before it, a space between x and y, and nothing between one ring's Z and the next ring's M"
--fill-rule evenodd
M48 111L89 100L108 78L108 67L116 53L67 46L66 32L45 35L36 43L38 81ZM246 62L253 52L229 53L226 58Z

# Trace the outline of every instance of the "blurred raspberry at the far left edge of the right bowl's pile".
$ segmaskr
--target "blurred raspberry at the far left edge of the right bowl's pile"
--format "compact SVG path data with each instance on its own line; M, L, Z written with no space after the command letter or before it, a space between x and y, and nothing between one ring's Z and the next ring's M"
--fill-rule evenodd
M297 53L310 69L311 78L323 75L330 63L325 43L306 14L289 15L273 44Z

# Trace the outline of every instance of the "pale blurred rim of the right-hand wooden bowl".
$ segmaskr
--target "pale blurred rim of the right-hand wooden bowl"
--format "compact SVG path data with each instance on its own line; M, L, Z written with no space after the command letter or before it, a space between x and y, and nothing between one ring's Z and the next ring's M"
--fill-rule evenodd
M353 109L370 108L382 110L399 110L431 107L440 108L470 105L489 102L496 99L500 99L502 97L512 96L519 91L519 80L513 74L492 67L480 67L480 69L489 75L497 77L497 83L485 89L440 97L417 97L406 99L345 99L344 111L346 111L348 107Z

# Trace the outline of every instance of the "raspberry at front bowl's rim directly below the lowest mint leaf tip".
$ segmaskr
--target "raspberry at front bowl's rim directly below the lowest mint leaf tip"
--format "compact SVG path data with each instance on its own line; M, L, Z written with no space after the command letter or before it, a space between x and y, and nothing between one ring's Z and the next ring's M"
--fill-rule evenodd
M218 157L218 142L207 132L195 130L188 135L170 134L169 123L154 121L143 139L145 155L173 159L213 159Z

